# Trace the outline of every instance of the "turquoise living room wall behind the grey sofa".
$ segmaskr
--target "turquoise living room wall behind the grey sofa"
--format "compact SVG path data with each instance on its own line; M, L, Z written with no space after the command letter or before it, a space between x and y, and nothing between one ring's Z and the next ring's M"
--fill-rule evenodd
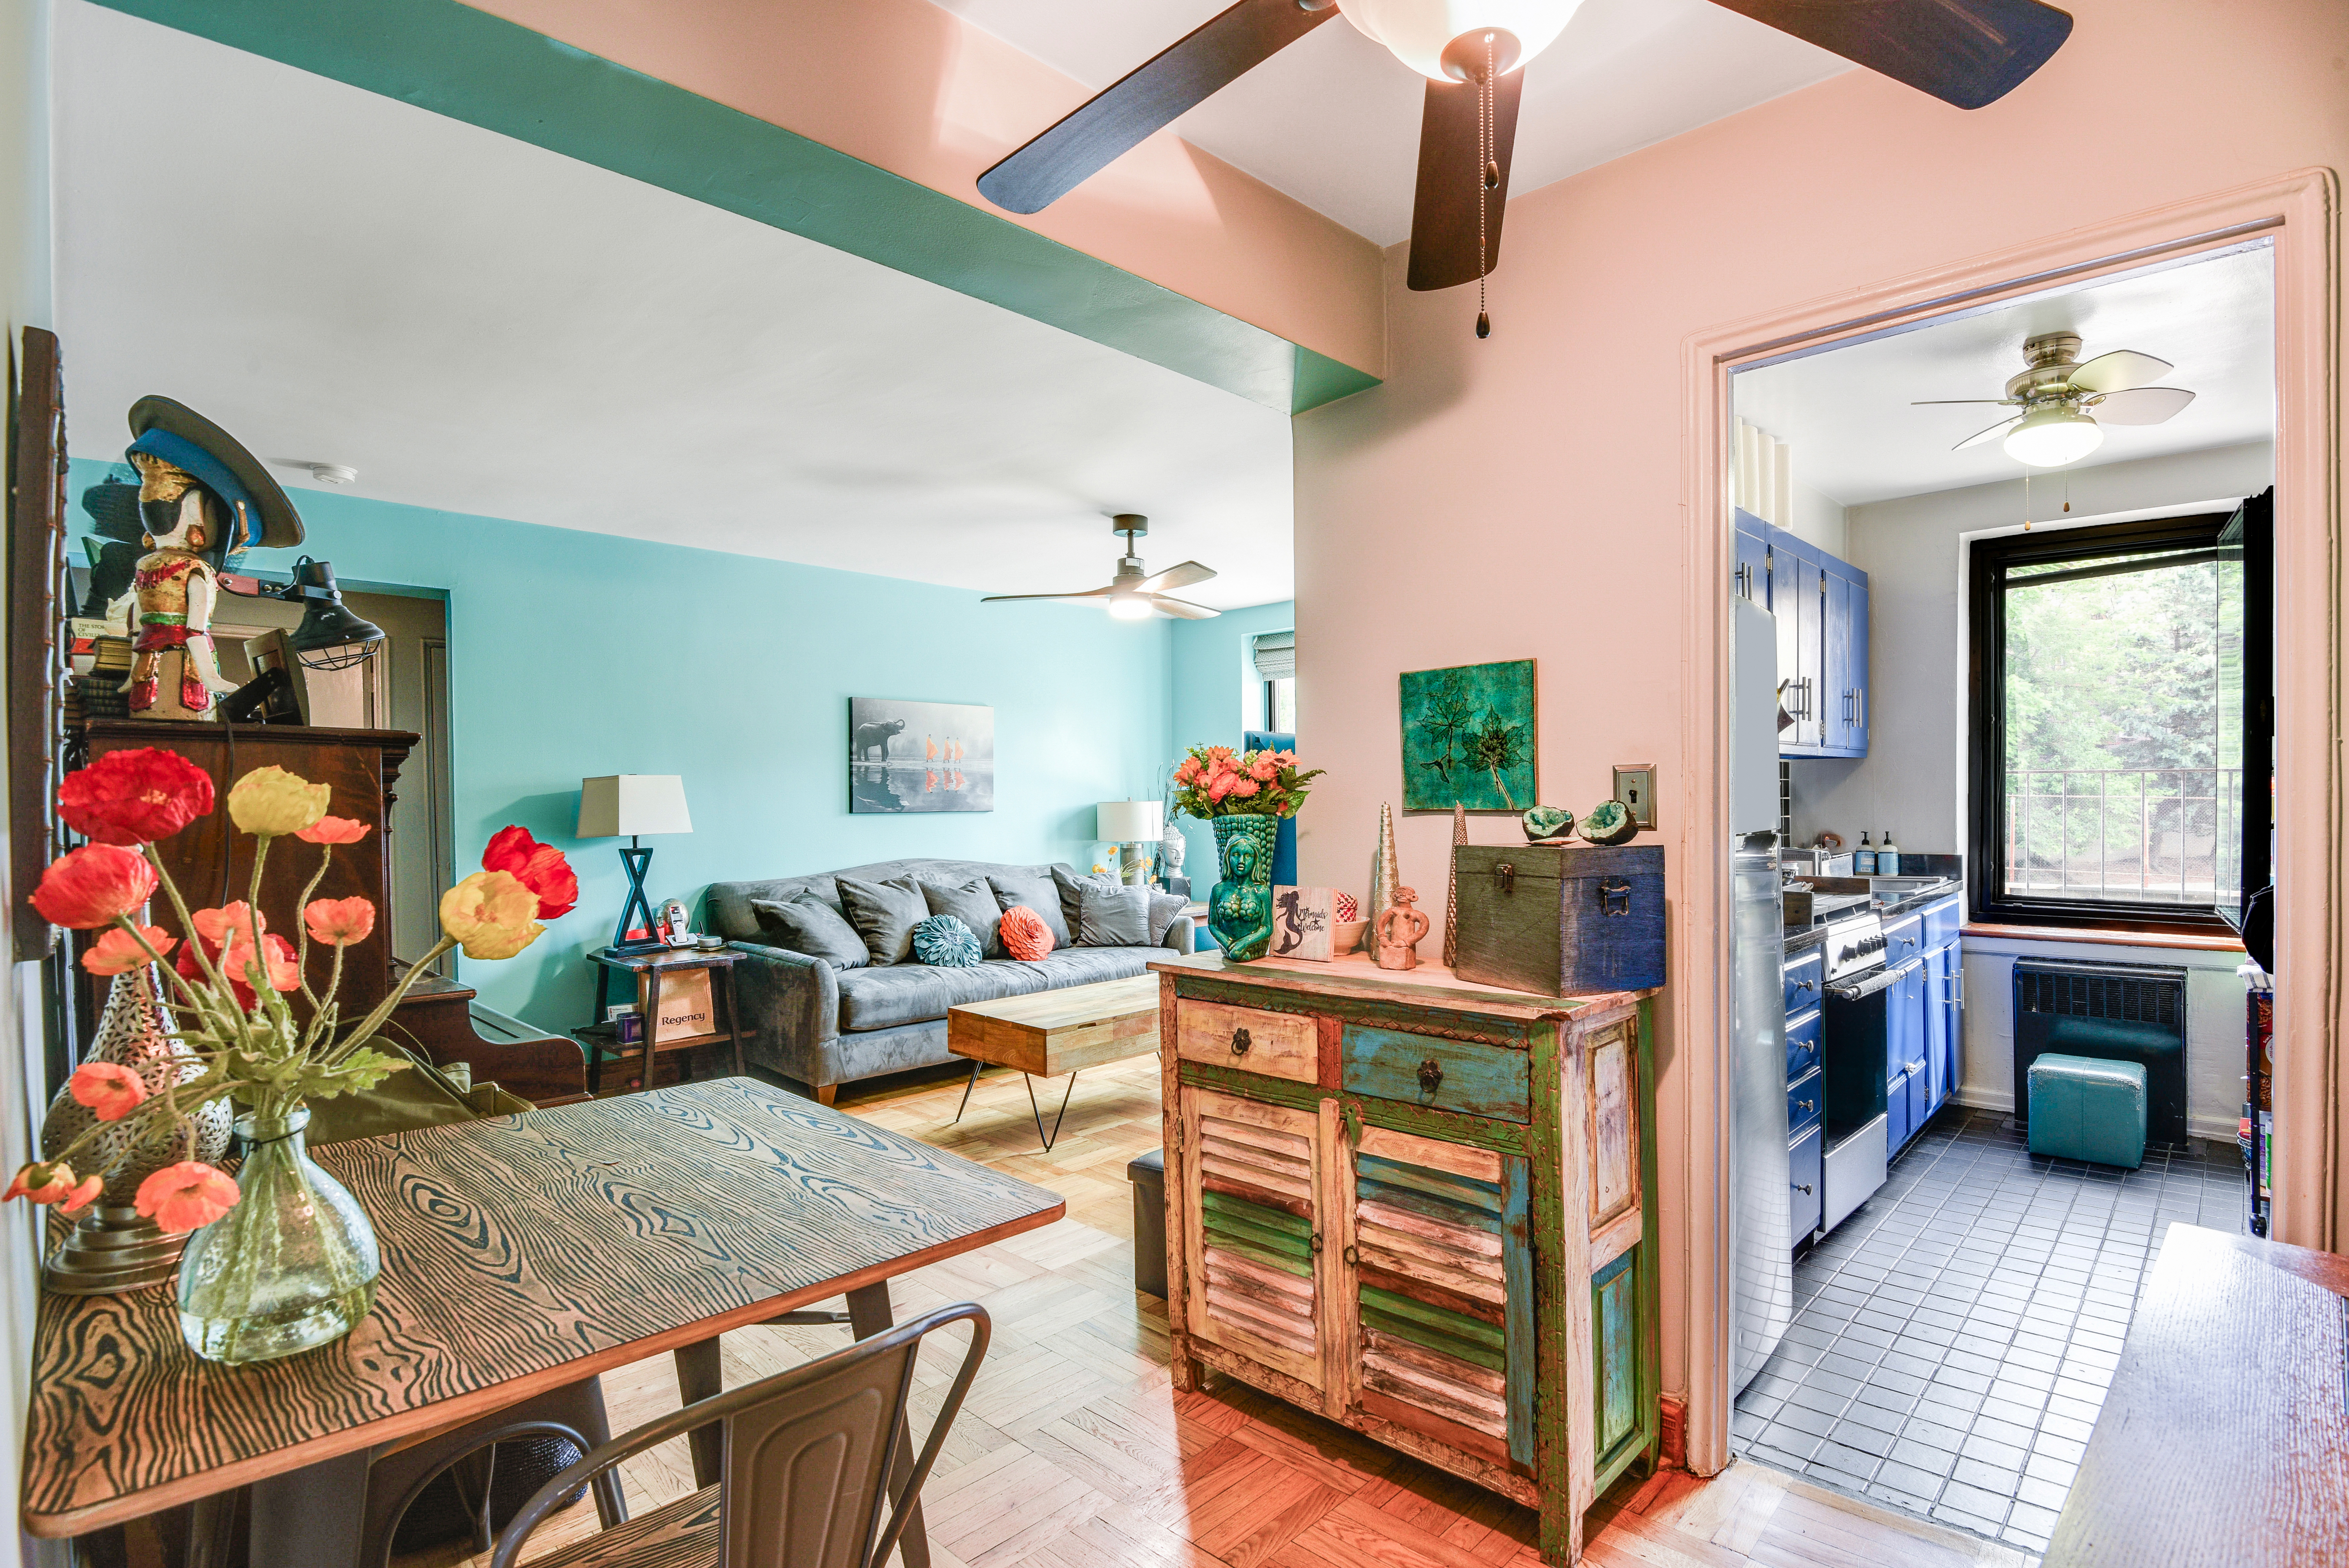
M78 461L75 496L106 473ZM698 910L709 882L897 856L1090 865L1095 804L1156 795L1172 755L1170 632L1189 625L334 491L294 501L301 552L345 585L449 595L458 872L505 823L573 856L580 907L521 957L463 966L489 1006L545 1030L587 1020L583 954L627 889L618 839L571 837L580 778L684 776L693 832L646 839L646 891ZM994 705L996 809L850 816L850 696Z

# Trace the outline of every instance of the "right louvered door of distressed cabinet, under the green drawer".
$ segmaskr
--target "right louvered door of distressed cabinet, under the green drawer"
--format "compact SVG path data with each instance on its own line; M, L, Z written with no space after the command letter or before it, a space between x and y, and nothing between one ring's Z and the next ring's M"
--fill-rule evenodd
M1494 1465L1532 1465L1525 1161L1362 1124L1351 1175L1360 1408Z

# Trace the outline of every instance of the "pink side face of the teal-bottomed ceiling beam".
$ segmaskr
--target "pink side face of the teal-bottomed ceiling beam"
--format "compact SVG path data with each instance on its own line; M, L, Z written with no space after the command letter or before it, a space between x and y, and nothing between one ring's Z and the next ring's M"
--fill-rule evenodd
M1381 374L1379 252L1160 132L1034 216L980 172L1090 94L928 0L472 0ZM1167 40L1172 42L1172 38Z

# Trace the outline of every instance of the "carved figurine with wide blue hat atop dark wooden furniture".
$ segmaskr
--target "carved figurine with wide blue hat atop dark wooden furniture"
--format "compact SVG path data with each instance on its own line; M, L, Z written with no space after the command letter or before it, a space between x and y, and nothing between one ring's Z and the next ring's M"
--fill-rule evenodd
M146 524L132 665L132 717L209 719L235 691L211 649L221 574L254 548L303 538L301 512L233 435L169 397L132 404L132 465Z

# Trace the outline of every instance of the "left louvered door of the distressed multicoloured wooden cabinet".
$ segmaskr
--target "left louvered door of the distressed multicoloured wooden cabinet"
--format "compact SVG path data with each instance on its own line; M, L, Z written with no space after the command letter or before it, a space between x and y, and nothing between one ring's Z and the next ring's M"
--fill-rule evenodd
M1320 1389L1320 1117L1182 1088L1184 1319L1193 1335Z

